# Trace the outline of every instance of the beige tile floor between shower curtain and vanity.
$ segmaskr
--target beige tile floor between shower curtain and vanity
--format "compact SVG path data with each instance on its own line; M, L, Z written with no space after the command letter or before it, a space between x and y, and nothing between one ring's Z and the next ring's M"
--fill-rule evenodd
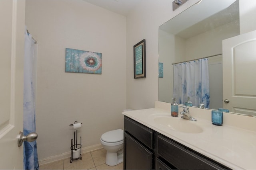
M82 154L82 160L73 160L70 163L70 158L64 160L58 160L56 162L51 162L49 164L39 165L40 170L122 170L123 163L116 166L108 166L105 163L106 150L100 149L90 153Z

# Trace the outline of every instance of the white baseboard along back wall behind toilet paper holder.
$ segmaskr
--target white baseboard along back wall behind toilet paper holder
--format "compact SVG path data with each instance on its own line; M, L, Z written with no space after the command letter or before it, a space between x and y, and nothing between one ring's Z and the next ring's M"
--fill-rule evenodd
M92 146L89 146L89 147L82 148L81 153L85 154L85 153L93 152L93 151L96 151L96 150L99 150L99 149L102 149L102 148L103 147L100 143L100 144L97 144L97 145L92 145ZM55 155L55 156L50 156L48 158L44 158L42 160L38 160L38 163L39 163L39 165L43 165L43 164L48 164L50 162L55 162L55 161L58 161L58 160L70 158L70 156L71 156L70 152L71 151L68 151L68 152L65 152L65 153L62 153L62 154L58 154L58 155Z

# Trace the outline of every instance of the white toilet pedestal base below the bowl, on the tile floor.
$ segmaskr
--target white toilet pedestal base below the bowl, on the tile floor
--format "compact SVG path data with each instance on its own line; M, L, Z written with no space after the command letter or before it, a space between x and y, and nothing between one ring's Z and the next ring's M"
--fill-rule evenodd
M109 166L115 166L117 164L120 164L124 161L123 157L123 149L119 150L118 152L107 151L106 164Z

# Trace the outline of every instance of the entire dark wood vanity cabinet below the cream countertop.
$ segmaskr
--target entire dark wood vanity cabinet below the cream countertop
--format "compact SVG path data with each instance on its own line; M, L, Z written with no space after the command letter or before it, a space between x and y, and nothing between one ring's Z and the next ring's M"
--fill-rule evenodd
M124 116L124 169L230 169Z

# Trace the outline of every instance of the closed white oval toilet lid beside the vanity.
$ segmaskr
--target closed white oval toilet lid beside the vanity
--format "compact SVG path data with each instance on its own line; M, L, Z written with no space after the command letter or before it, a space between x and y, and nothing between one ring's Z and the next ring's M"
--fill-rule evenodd
M109 143L122 141L124 140L124 131L122 129L108 131L101 136L101 140Z

